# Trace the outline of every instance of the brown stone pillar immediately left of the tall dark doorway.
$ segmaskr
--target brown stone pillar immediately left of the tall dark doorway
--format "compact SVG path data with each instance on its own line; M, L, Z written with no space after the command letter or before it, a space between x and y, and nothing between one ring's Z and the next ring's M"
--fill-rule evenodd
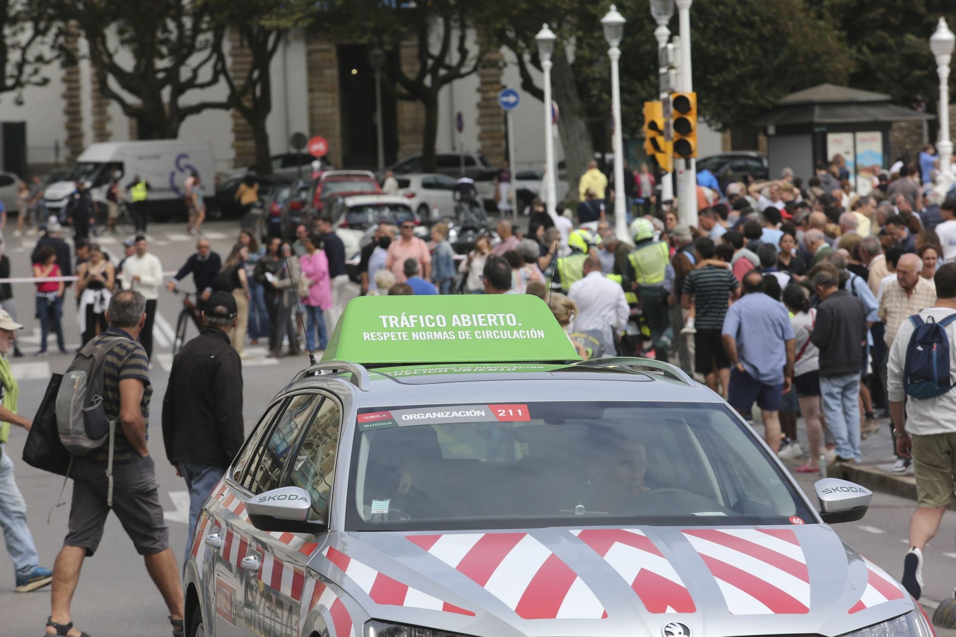
M309 136L320 135L329 142L326 158L337 168L342 165L342 118L338 99L338 53L325 35L306 34L306 79L309 84Z

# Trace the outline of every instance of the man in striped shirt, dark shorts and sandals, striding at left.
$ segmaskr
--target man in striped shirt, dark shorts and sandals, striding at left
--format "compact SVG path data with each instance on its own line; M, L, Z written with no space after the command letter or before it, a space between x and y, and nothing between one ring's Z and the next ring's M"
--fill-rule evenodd
M135 290L122 290L110 299L106 310L109 329L96 340L120 340L106 356L103 407L111 422L117 422L113 456L112 507L108 503L104 445L88 456L74 457L70 522L63 548L54 563L53 611L48 635L82 637L73 626L70 603L83 560L92 556L103 537L106 516L112 508L123 529L143 556L146 570L160 589L169 608L173 635L183 630L183 584L179 566L169 548L169 529L163 520L156 466L146 446L149 383L146 352L137 341L146 320L146 300ZM109 444L108 442L106 443Z

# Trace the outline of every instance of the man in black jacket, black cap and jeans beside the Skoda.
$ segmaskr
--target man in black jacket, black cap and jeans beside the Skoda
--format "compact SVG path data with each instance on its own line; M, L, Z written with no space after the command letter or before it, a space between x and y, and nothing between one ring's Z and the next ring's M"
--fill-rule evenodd
M229 332L236 325L235 299L227 292L213 292L203 317L203 331L173 359L163 398L166 457L189 490L184 563L203 500L245 438L242 362L229 344Z

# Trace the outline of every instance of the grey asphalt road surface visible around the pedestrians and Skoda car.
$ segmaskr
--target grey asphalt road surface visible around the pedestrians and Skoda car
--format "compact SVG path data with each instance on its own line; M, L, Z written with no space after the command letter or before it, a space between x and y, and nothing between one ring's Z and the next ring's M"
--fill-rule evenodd
M213 249L221 254L228 251L235 240L236 224L210 224L207 236ZM150 228L151 250L163 261L163 269L173 270L180 265L192 250L193 238L185 235L179 225L162 225ZM121 239L121 238L120 238ZM22 243L8 236L5 242L7 254L11 258L14 276L29 276L29 255L31 240ZM120 242L107 242L108 249L121 251ZM70 357L51 355L34 359L30 354L37 349L34 337L36 322L30 311L33 302L33 286L19 285L15 294L20 300L19 319L26 329L22 339L22 349L28 357L14 359L14 372L20 378L20 412L33 414L51 372L62 372L70 362ZM66 304L67 341L71 349L76 349L75 308ZM172 294L163 293L159 303L160 315L164 322L175 325L180 302ZM155 356L151 379L154 386L153 423L151 427L150 448L157 457L158 478L162 490L163 507L167 511L170 528L170 541L177 557L181 557L185 545L185 485L177 478L172 467L165 461L162 445L162 433L159 427L159 403L165 393L168 360L171 351L168 347L169 334L163 333L163 321L158 321L159 331L166 337L157 338L157 356ZM247 431L259 417L262 406L276 393L295 372L307 364L307 358L267 359L264 348L249 348L252 358L244 362L245 402L243 412L246 417ZM51 346L51 351L55 351ZM16 478L30 510L30 525L33 537L39 549L40 562L53 565L66 531L68 506L54 508L57 501L69 502L71 483L66 485L63 499L58 499L62 479L27 466L19 458L22 455L26 432L13 428L7 452L16 462ZM807 493L813 494L814 477L798 478ZM839 534L850 544L865 554L870 560L880 564L891 575L899 577L902 570L902 555L906 550L906 529L909 514L913 509L912 501L876 494L869 513L863 520L837 525ZM48 521L49 517L49 521ZM924 599L928 600L930 612L932 602L949 597L956 578L952 578L956 567L956 514L947 512L939 538L932 542L926 552L924 578L926 581ZM50 612L49 588L33 593L16 594L13 592L13 572L8 567L6 578L0 577L0 635L19 637L42 634L43 625ZM136 554L132 543L126 537L120 523L110 517L99 551L88 559L83 567L80 583L74 599L74 620L76 626L86 630L94 637L143 637L166 636L170 627L166 621L163 602L146 575L141 558ZM945 637L956 637L956 630L939 630Z

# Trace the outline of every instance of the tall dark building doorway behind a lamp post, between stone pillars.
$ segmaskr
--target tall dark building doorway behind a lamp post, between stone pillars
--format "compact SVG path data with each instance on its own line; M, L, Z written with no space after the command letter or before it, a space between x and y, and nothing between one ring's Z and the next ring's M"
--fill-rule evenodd
M368 50L360 44L338 45L338 96L342 121L342 168L375 170L378 142L375 126L375 73ZM393 60L386 60L385 66ZM395 96L381 77L382 142L385 165L396 161L399 148Z

